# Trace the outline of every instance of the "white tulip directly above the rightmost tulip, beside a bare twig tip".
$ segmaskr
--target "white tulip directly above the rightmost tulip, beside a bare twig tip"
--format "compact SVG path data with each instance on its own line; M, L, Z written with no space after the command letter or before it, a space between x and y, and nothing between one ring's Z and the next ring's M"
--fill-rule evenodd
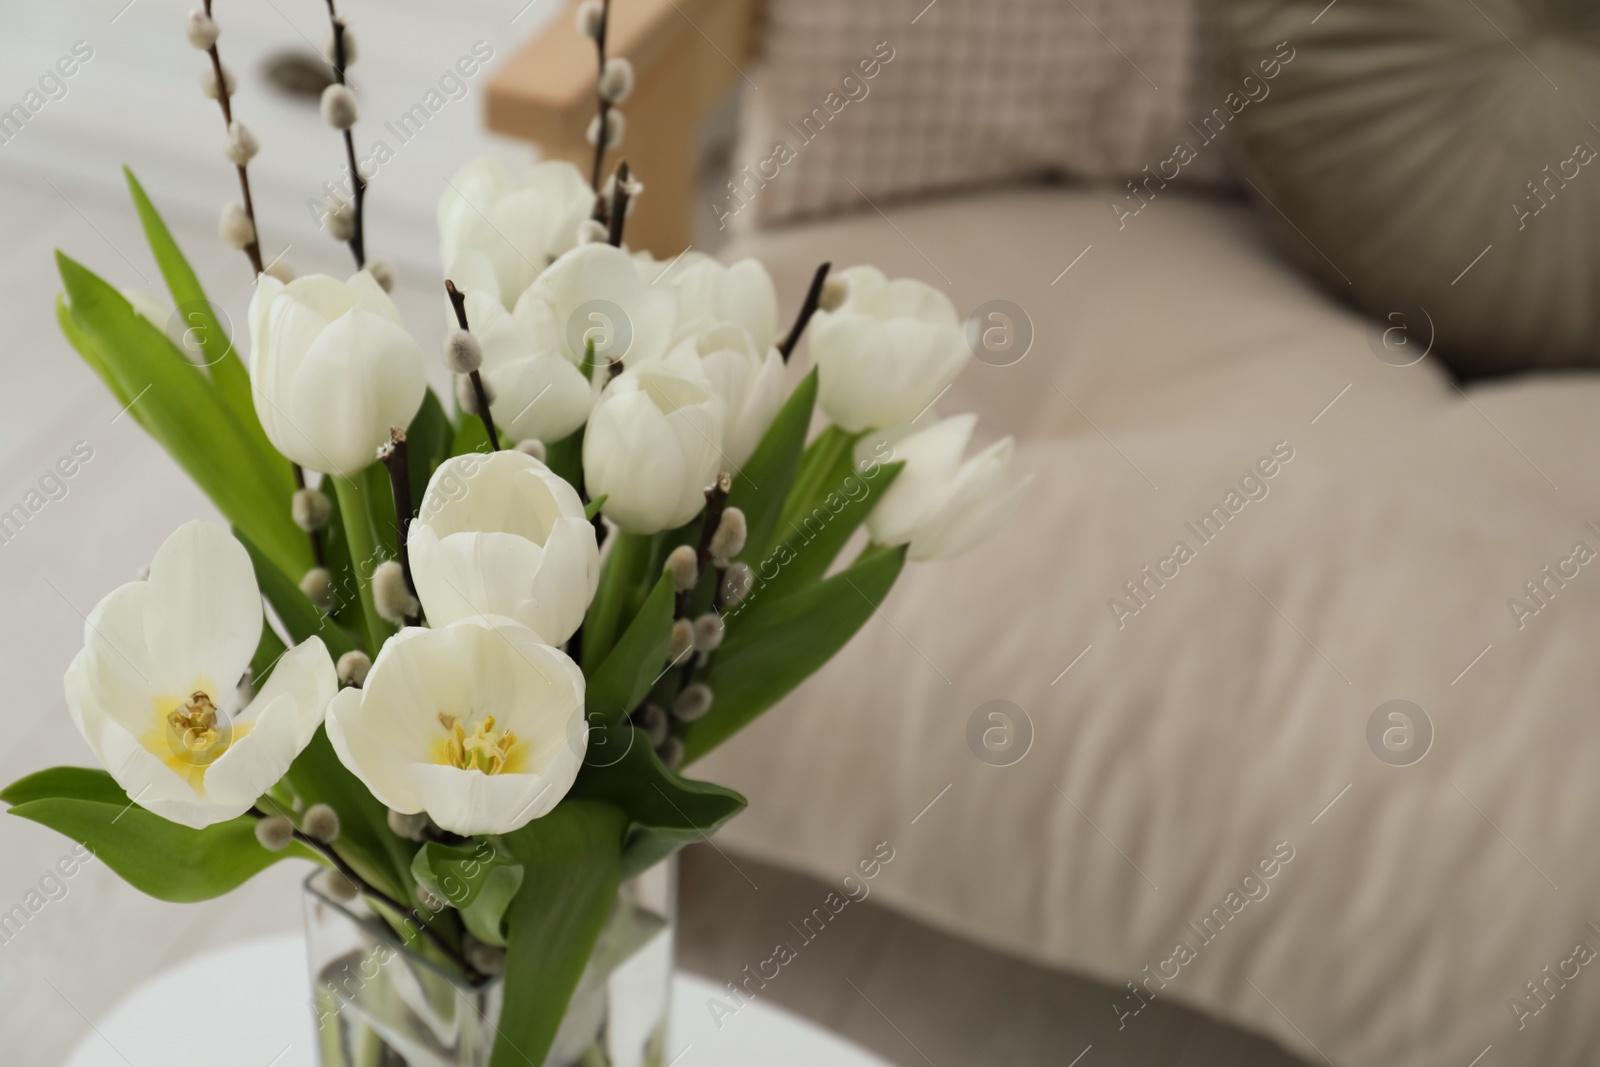
M845 302L811 318L818 403L856 434L910 422L955 381L971 352L950 298L877 267L840 272Z

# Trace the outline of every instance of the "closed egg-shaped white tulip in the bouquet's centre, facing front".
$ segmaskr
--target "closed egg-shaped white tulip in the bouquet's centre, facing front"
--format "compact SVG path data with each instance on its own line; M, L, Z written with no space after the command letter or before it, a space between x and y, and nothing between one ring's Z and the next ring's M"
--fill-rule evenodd
M624 371L605 387L584 434L590 499L626 533L682 526L728 464L723 403L690 352Z

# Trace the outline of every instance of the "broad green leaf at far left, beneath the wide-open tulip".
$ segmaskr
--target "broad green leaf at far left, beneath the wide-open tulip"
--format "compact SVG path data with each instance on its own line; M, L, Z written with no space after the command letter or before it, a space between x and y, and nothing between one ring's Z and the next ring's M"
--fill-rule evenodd
M280 859L318 859L299 843L277 853L262 848L251 816L203 830L168 822L133 803L106 771L50 768L0 790L0 800L11 814L78 841L158 901L210 901Z

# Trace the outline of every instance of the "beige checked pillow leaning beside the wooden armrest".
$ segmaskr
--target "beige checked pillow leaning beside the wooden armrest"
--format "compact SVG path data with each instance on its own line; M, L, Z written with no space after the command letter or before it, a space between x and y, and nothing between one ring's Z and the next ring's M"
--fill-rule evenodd
M734 181L768 224L1040 176L1134 178L1194 139L1205 0L768 0ZM1208 150L1186 181L1227 173Z

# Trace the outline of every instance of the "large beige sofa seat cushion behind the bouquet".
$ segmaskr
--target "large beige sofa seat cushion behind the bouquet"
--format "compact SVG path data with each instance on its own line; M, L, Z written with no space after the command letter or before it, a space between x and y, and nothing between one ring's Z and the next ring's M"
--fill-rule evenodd
M1158 995L1312 1062L1592 1062L1592 968L1523 1029L1509 1003L1531 1013L1526 981L1600 949L1600 571L1563 563L1600 550L1600 381L1461 394L1430 358L1392 366L1246 211L1202 200L1120 232L1102 190L890 219L734 253L790 302L832 258L944 275L963 312L1027 309L1032 352L974 365L941 408L1018 434L1037 491L987 547L909 569L827 670L694 768L750 798L725 848L837 878L888 840L882 899L1118 990L1184 939L1197 958ZM1200 544L1186 523L1253 493L1275 448L1293 459L1266 496ZM1107 601L1136 603L1125 582L1179 541L1195 558L1118 619ZM1538 606L1546 565L1576 577L1518 629L1507 601ZM1013 766L968 747L994 699L1032 721ZM1368 742L1390 699L1432 723L1411 766ZM1293 859L1246 883L1274 848ZM1189 923L1259 885L1200 944Z

